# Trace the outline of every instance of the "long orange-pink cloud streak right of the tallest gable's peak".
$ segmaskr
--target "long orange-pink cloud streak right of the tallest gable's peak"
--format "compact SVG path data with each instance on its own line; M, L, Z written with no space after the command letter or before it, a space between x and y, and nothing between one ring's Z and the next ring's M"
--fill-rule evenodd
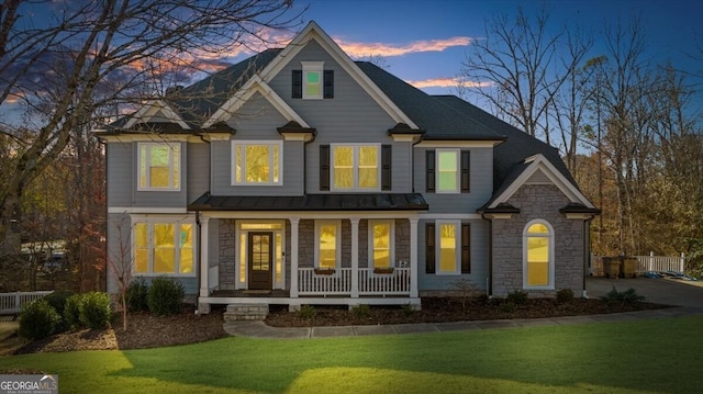
M415 41L405 45L384 44L384 43L354 43L346 42L342 38L334 38L347 55L352 57L364 56L403 56L422 52L443 52L453 46L470 45L471 37L451 37L446 40L423 40Z

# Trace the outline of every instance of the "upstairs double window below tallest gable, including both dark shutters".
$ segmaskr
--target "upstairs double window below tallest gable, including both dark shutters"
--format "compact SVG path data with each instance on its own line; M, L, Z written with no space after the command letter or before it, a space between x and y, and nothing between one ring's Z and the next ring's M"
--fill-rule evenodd
M320 190L391 190L391 145L320 146Z

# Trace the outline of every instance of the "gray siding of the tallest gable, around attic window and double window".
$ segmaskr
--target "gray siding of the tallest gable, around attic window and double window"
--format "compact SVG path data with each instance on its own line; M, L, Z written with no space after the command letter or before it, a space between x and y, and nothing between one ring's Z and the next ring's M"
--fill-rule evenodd
M291 99L291 72L302 69L301 61L324 61L334 70L334 99ZM312 41L269 83L311 127L315 140L305 145L305 181L309 193L320 193L320 145L392 144L392 192L412 190L411 145L393 143L388 130L395 122L316 42Z

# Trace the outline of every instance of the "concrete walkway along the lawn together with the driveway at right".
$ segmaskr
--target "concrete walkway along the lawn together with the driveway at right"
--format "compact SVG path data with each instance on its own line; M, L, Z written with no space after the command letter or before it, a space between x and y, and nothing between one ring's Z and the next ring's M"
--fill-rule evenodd
M455 323L422 323L377 326L334 326L334 327L270 327L263 322L227 322L224 329L230 335L250 338L272 339L312 339L330 337L354 337L367 335L421 334L456 330L520 328L532 326L555 326L571 324L598 324L628 322L651 318L703 316L703 283L680 283L662 279L601 279L587 281L590 297L601 296L615 286L617 291L633 288L646 301L667 305L680 305L671 308L637 311L605 315L565 316L533 319L476 320Z

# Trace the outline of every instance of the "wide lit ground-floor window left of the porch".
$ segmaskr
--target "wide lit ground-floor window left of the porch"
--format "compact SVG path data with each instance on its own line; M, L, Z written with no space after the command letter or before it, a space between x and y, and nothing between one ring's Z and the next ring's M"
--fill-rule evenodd
M194 274L191 223L137 222L133 234L135 273Z

